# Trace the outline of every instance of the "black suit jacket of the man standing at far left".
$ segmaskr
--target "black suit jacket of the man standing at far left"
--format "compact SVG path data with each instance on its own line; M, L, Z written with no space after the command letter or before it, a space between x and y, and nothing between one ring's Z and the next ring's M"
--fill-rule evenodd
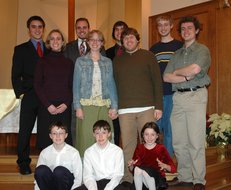
M44 55L46 53L44 46ZM14 48L11 81L16 98L33 89L35 65L39 58L31 40Z

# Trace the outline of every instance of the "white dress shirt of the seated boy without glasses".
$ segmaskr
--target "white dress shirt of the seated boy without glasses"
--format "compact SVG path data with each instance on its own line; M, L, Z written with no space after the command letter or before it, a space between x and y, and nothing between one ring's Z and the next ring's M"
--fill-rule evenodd
M109 179L104 190L113 190L124 175L124 156L120 147L110 143L100 148L97 143L84 153L83 182L89 190L98 190L96 181Z

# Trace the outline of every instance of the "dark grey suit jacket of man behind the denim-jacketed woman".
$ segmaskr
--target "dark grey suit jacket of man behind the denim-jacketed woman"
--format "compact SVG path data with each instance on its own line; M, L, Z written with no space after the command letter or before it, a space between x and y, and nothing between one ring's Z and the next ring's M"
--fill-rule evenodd
M90 47L88 46L87 43L86 43L86 45L87 45L87 51L86 52L89 52L90 51ZM100 52L101 52L101 54L103 56L106 56L105 48L104 47L102 47L102 49L101 49ZM78 47L78 39L74 40L72 42L69 42L66 45L66 48L64 50L64 55L65 55L65 57L71 59L73 61L73 63L75 63L76 59L78 57L80 57L79 47Z

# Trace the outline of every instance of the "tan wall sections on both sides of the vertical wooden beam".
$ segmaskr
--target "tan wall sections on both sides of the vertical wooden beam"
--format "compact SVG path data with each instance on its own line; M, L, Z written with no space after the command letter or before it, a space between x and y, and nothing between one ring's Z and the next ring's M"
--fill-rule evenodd
M97 0L75 0L75 16L87 17L91 28L96 28ZM80 8L80 7L87 7ZM46 23L44 39L52 29L61 29L67 40L68 36L68 1L67 0L19 0L17 44L28 40L26 21L32 15L41 16ZM74 24L74 23L73 23Z

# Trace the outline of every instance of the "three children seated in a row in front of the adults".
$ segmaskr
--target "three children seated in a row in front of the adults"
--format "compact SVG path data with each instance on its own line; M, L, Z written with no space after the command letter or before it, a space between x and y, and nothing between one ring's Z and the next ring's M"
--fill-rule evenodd
M43 149L35 169L35 189L49 190L142 190L166 189L165 171L176 167L164 145L158 143L159 128L147 122L141 131L143 144L135 149L128 162L134 183L121 182L124 176L123 150L110 142L110 124L105 120L94 123L95 143L84 153L83 163L79 151L65 143L68 130L62 122L49 127L52 145ZM145 167L146 166L146 167Z

